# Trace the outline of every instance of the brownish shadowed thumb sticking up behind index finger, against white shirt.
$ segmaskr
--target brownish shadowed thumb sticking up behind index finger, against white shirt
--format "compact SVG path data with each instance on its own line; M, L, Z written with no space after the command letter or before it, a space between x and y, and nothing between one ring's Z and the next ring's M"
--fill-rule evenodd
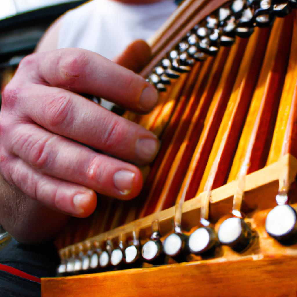
M151 48L144 40L135 40L124 52L113 59L117 64L131 69L134 72L140 70L150 61Z

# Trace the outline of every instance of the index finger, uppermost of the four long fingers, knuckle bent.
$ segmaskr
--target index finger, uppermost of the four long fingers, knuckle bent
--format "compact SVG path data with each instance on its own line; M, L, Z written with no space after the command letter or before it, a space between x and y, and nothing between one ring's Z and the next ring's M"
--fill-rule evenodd
M157 103L157 91L150 83L96 53L66 48L37 55L38 75L50 86L103 97L138 112Z

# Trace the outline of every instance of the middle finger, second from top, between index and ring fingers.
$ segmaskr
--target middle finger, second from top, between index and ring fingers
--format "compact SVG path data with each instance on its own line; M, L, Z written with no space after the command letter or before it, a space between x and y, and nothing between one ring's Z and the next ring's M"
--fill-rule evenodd
M42 127L138 164L157 154L157 137L83 97L57 88L29 85L22 110Z

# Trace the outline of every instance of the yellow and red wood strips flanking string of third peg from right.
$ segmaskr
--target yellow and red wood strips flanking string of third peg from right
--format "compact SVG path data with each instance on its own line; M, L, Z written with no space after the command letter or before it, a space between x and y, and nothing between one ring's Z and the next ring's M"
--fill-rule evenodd
M198 193L203 192L206 184L213 189L226 182L230 162L234 156L260 72L268 36L269 28L262 30L257 28L250 37L232 94L208 157ZM219 151L221 154L218 155ZM219 159L218 162L214 162L216 158ZM192 174L195 174L195 171Z

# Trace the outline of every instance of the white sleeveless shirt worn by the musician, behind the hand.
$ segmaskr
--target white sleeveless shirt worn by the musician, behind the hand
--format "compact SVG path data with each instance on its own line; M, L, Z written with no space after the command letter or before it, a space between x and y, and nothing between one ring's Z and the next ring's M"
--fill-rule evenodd
M132 41L151 37L176 7L174 0L152 4L90 1L62 17L58 48L84 48L113 59Z

